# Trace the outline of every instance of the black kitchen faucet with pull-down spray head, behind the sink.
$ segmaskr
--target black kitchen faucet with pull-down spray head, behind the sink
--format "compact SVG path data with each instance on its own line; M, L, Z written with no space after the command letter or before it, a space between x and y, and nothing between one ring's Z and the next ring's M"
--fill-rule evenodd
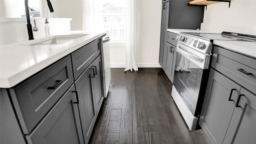
M52 7L52 3L50 2L50 0L46 0L49 10L50 12L54 12L54 9ZM28 40L34 40L34 36L33 36L33 30L37 31L38 28L36 27L36 20L34 20L35 22L35 27L32 28L32 25L30 23L30 16L29 16L29 7L28 7L28 0L25 0L25 9L26 9L26 17L27 17L27 28L28 28Z

